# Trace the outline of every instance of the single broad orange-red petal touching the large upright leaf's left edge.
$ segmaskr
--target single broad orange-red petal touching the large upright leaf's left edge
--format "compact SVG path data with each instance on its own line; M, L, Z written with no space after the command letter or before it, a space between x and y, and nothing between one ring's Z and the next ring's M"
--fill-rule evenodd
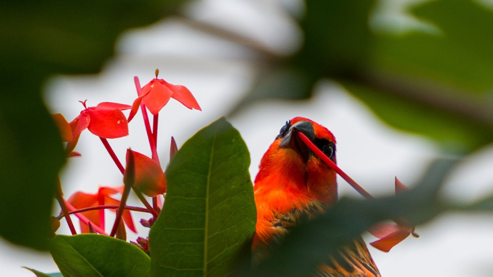
M127 150L127 161L130 155L134 156L135 163L134 186L149 197L164 193L166 191L166 179L159 163L131 149Z

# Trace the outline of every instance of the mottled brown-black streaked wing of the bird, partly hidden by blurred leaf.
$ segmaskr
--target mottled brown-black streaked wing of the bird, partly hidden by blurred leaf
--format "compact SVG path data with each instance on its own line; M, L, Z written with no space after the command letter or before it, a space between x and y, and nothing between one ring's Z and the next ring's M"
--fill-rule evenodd
M292 211L279 215L272 223L277 236L272 245L282 241L289 230L311 220L325 211L325 205L318 201L311 201L303 208L295 208ZM337 254L331 255L329 261L319 267L318 277L380 277L377 266L361 239L356 239L342 247Z

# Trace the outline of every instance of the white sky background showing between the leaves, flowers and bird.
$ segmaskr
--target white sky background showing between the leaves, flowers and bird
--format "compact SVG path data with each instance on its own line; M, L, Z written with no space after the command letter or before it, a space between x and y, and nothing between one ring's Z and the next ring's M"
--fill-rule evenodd
M280 2L294 14L302 14L303 6L295 0L203 0L186 13L240 30L278 53L290 53L300 46L302 34ZM415 22L402 17L402 2L389 1L382 6L387 7L387 18L399 20L405 29ZM159 68L160 78L187 86L203 109L188 110L173 99L164 107L158 138L163 167L168 160L170 136L176 138L179 147L197 130L227 114L253 84L252 52L174 20L122 35L117 51L99 75L59 76L50 81L46 102L53 113L61 112L69 121L83 109L78 100L88 99L88 106L106 101L131 104L137 95L133 77L139 76L144 85L153 78L154 69ZM246 141L252 178L262 154L284 122L294 116L308 117L330 129L338 141L339 166L374 195L392 194L395 175L405 184L413 184L439 153L432 141L389 128L337 84L322 80L308 101L264 100L228 118ZM140 111L129 128L130 136L110 140L117 156L124 160L128 147L150 156ZM99 185L121 185L121 174L99 138L83 132L76 150L83 156L70 159L61 176L67 198L78 190L94 193ZM493 193L492 164L493 147L470 156L450 176L444 195L467 202ZM339 184L341 195L357 196L344 180L340 179ZM139 205L135 199L131 199L131 204ZM142 213L133 214L140 225ZM145 237L148 229L140 230ZM493 275L493 215L446 214L418 226L416 231L421 238L409 238L389 253L369 246L382 276ZM70 233L64 220L58 233ZM129 238L135 236L129 234ZM373 240L370 236L365 238ZM0 239L0 276L33 276L21 266L46 273L58 271L48 253L33 252Z

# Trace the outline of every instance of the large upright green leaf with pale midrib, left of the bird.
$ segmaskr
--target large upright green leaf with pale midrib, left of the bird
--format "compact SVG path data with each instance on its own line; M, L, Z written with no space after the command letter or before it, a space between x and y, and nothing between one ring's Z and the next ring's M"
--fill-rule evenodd
M227 276L240 256L249 259L256 221L249 164L245 142L224 118L176 152L149 234L152 276Z

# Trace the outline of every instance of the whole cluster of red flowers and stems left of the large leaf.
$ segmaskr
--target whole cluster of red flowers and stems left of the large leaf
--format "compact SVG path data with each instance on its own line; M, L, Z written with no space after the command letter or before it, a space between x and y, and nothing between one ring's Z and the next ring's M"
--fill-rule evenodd
M135 77L137 98L132 105L103 102L96 106L87 107L87 100L85 100L79 101L84 106L84 109L70 122L59 113L52 115L54 122L60 130L62 140L67 141L67 157L81 155L79 152L74 151L74 149L80 134L87 129L101 139L108 154L123 174L124 184L122 186L102 186L99 188L98 192L94 194L75 192L68 200L64 199L61 185L59 185L56 198L60 203L62 212L56 219L60 220L65 217L72 234L76 234L70 219L70 214L72 213L80 220L80 230L82 233L100 233L107 235L105 231L105 210L109 209L116 212L116 219L113 222L113 227L109 236L116 236L117 238L122 239L126 238L125 226L132 232L137 233L130 210L143 211L152 214L152 218L149 220L141 220L142 225L146 227L150 227L156 220L162 208L162 198L166 193L165 173L162 170L161 163L157 156L156 140L159 112L168 103L170 98L177 100L189 109L201 110L192 93L186 87L170 84L163 79L158 79L158 73L159 70L156 69L156 78L149 81L142 88L140 86L139 78ZM146 155L129 148L127 149L124 167L116 157L108 139L128 136L128 124L137 114L139 109L141 109L142 112L152 157L147 157ZM128 117L122 112L124 110L130 110ZM149 110L153 116L152 129L147 110ZM170 159L176 151L176 142L172 138ZM131 190L134 191L145 208L130 207L126 205ZM119 198L114 197L117 194L120 194ZM152 198L152 204L147 201L144 195ZM59 224L54 226L59 226ZM143 241L145 241L145 239L140 238L136 244L141 245L140 247L148 247Z

